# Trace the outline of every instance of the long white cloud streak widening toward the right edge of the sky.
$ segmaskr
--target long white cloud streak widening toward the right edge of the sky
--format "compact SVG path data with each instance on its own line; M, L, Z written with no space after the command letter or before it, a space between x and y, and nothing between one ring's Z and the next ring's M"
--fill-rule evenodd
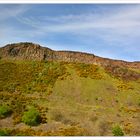
M111 11L110 11L111 12ZM66 15L57 17L22 18L20 21L36 28L46 29L52 32L64 32L73 30L88 30L94 28L133 28L140 26L140 6L120 8L112 14L89 13L83 15ZM45 18L45 19L44 19ZM51 21L51 24L47 23ZM53 22L55 23L54 25ZM39 26L44 25L44 26Z

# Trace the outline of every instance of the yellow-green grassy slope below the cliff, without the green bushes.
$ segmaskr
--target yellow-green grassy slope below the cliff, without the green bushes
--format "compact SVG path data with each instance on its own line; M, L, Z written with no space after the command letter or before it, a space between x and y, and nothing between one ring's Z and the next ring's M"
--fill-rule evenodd
M116 123L125 135L140 135L139 91L139 80L96 65L0 61L0 104L13 110L10 135L112 135ZM31 128L21 123L30 106L42 117Z

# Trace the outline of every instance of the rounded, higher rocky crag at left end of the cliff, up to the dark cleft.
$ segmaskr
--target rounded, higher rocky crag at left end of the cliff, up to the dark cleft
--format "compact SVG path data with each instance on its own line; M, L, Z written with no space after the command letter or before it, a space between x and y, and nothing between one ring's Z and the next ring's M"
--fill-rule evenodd
M8 44L0 51L3 59L43 60L44 55L45 48L33 43Z

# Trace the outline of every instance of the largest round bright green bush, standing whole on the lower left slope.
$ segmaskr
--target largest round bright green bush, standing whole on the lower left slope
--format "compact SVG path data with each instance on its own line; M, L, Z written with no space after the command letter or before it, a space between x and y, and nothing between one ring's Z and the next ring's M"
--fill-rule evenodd
M33 107L30 108L28 111L24 112L22 122L30 126L38 125L40 123L39 112Z

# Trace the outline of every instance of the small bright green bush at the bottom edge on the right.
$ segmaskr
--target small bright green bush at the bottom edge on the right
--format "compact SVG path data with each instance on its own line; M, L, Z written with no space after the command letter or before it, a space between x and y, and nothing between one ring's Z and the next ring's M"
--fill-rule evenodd
M115 125L112 128L112 133L113 133L114 136L124 136L124 132L119 125Z

